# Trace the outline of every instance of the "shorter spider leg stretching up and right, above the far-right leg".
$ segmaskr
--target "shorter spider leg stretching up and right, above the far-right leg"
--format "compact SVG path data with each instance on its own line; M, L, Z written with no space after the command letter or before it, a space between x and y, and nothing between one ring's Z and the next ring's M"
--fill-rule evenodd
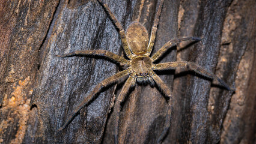
M174 40L170 40L167 43L165 43L161 49L159 49L154 55L151 57L153 61L156 61L156 59L160 58L160 56L163 55L170 47L177 45L181 41L200 41L201 38L196 38L196 37L187 37L187 38L178 38Z

